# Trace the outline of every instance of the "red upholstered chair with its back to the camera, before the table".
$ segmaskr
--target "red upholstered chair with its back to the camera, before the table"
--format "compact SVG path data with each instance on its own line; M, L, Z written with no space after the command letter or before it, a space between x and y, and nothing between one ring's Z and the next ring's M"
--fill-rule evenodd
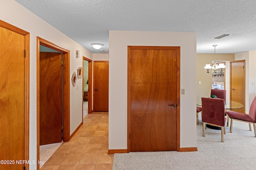
M203 137L205 133L205 124L217 126L221 127L221 141L224 142L224 134L226 134L224 105L224 99L202 98Z

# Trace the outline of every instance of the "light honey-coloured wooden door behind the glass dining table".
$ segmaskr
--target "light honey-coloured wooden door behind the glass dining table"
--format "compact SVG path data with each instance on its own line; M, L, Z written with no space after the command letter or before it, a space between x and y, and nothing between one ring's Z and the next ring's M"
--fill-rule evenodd
M245 60L230 61L230 100L245 104ZM245 108L233 111L245 113Z

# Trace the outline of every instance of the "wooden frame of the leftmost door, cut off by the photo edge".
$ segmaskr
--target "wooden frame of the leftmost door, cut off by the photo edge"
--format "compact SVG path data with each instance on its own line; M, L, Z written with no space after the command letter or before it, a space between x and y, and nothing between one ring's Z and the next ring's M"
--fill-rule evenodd
M24 57L24 82L25 82L25 89L24 89L24 159L29 160L29 75L30 75L30 33L15 27L5 21L0 20L0 27L23 35L25 37L25 50L26 50L26 57ZM26 168L29 169L28 164L26 164Z

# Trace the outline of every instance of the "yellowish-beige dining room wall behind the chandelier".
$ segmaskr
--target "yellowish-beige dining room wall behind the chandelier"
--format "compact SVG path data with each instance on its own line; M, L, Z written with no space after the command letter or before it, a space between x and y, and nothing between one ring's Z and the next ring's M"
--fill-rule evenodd
M216 54L216 61L234 61L234 54ZM197 54L196 55L196 96L210 96L212 89L212 73L207 73L204 68L205 64L211 64L214 61L214 54ZM229 86L229 62L226 62L226 90ZM228 80L227 80L228 79ZM201 81L201 84L199 84ZM227 95L229 92L227 93Z

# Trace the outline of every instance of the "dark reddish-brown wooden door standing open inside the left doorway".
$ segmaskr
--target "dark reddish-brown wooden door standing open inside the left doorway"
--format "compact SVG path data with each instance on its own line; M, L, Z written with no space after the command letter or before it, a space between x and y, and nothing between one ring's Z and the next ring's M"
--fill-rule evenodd
M62 141L62 54L40 52L40 145Z

